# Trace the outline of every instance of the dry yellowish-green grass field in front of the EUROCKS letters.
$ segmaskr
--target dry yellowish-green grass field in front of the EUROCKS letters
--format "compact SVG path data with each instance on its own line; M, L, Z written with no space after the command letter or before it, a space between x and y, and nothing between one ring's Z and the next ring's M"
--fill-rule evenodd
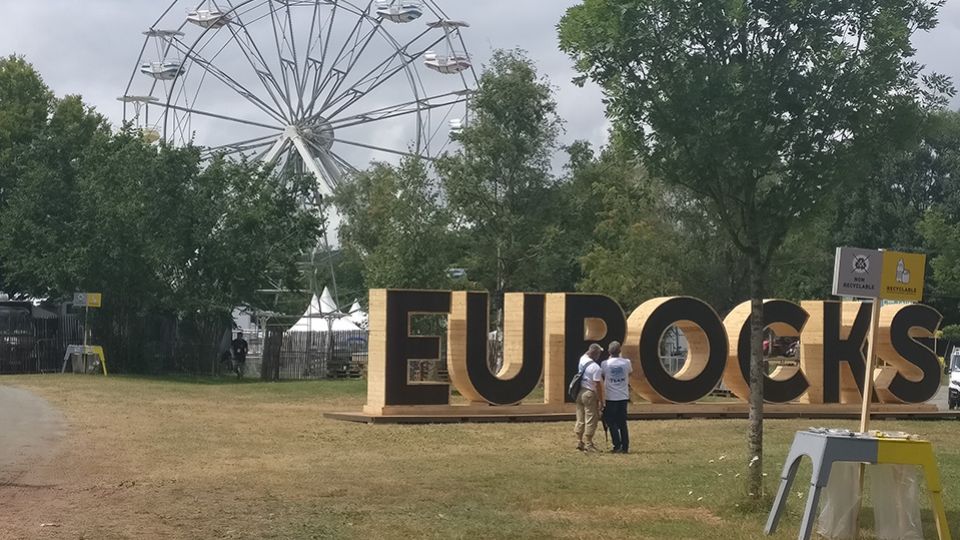
M763 538L769 503L747 508L739 477L745 421L632 422L632 454L587 455L566 423L322 418L358 410L362 382L46 375L0 384L44 396L70 426L54 461L19 487L0 486L0 538ZM766 423L768 490L793 432L811 423L823 422ZM960 423L874 427L934 441L960 536ZM796 538L805 481L793 491L774 538Z

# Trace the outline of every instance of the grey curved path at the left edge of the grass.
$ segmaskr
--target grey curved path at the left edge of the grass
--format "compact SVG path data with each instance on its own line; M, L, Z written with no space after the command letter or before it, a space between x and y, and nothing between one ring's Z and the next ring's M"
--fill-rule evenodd
M64 426L63 415L45 399L0 386L0 487L16 486L31 467L49 460Z

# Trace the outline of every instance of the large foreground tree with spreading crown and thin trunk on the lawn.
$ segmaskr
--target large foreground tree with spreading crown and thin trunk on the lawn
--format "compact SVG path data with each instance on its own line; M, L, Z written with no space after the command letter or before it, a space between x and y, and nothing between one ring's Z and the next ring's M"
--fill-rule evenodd
M770 262L841 180L862 180L918 101L910 37L942 0L585 0L560 45L599 83L647 168L705 204L748 263L749 492L762 490L762 310Z

